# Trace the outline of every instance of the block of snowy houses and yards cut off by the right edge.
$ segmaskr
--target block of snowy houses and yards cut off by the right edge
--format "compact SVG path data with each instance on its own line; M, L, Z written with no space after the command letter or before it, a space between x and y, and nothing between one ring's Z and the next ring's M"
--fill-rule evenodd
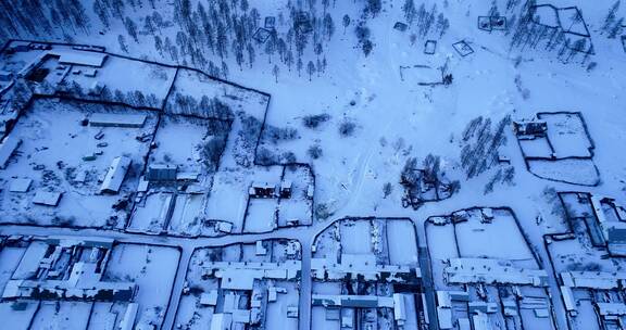
M587 192L560 192L559 199L571 231L544 239L567 321L586 329L623 328L626 208Z

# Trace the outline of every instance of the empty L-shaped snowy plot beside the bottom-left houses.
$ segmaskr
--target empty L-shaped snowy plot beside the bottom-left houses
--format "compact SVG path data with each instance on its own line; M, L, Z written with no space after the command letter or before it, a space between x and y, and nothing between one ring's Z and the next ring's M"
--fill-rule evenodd
M113 249L103 280L133 281L139 287L135 296L139 304L137 325L161 327L179 257L174 248L118 244Z

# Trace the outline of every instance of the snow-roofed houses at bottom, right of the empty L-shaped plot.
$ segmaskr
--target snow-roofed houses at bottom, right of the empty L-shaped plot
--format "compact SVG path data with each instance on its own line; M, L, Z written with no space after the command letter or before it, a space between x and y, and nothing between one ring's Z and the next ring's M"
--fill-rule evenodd
M243 257L238 262L203 262L198 268L192 266L190 271L198 271L200 281L216 283L200 293L198 312L212 310L210 323L201 329L272 329L276 326L289 329L290 325L298 323L299 294L295 288L301 278L301 248L297 241L288 241L284 256L275 259L271 256L274 243L276 241L267 240L237 245L252 248L248 251L253 252L252 259L259 262ZM187 287L184 293L190 290ZM275 323L280 319L284 321Z

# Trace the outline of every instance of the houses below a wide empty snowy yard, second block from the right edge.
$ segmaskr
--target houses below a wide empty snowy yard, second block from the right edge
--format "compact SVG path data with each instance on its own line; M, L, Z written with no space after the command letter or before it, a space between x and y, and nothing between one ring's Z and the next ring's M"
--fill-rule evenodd
M446 229L451 226L454 229ZM510 211L493 208L463 210L428 219L426 230L439 329L490 330L499 329L500 322L509 325L509 329L526 329L527 325L533 325L531 329L554 329L549 275L538 266L527 246L511 245L525 244L515 226ZM509 227L506 232L498 232L502 238L489 232L498 227L500 230ZM455 233L449 238L441 236L450 230ZM435 237L438 240L433 243ZM491 251L463 244L486 238L490 238ZM441 248L449 244L458 252Z

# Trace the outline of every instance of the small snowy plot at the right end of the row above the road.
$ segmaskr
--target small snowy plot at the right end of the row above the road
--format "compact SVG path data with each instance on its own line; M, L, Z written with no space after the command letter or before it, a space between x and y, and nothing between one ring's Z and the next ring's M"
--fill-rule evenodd
M278 200L278 227L313 223L314 178L308 166L286 166L283 182L291 182L291 196Z

